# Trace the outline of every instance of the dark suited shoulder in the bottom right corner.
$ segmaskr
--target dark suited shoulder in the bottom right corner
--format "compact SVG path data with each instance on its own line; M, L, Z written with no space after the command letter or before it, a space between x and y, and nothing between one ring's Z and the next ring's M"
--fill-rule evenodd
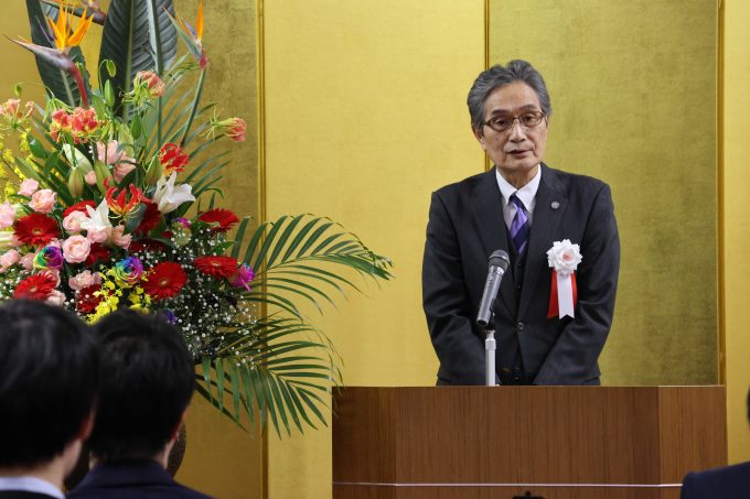
M681 499L750 498L750 462L708 471L687 474Z

